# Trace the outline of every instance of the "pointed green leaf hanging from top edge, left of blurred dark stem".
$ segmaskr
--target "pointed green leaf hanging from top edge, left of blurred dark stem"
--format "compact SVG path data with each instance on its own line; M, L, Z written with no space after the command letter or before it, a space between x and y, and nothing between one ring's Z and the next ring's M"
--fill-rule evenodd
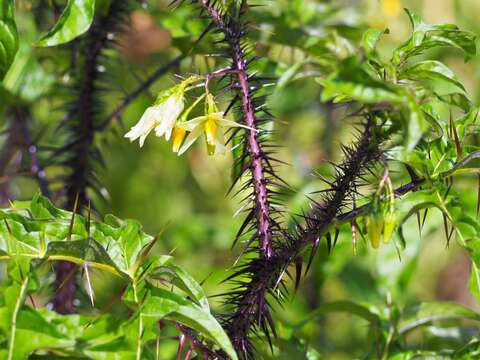
M75 39L89 29L94 13L95 0L68 0L55 26L36 45L55 46Z

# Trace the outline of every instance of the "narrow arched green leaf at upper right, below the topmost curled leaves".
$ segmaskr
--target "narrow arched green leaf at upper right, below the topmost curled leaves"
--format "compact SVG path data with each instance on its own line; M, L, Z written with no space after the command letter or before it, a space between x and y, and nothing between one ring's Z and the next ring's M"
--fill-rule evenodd
M440 79L459 87L465 91L462 83L458 80L457 75L440 61L427 60L417 62L398 74L399 79Z

